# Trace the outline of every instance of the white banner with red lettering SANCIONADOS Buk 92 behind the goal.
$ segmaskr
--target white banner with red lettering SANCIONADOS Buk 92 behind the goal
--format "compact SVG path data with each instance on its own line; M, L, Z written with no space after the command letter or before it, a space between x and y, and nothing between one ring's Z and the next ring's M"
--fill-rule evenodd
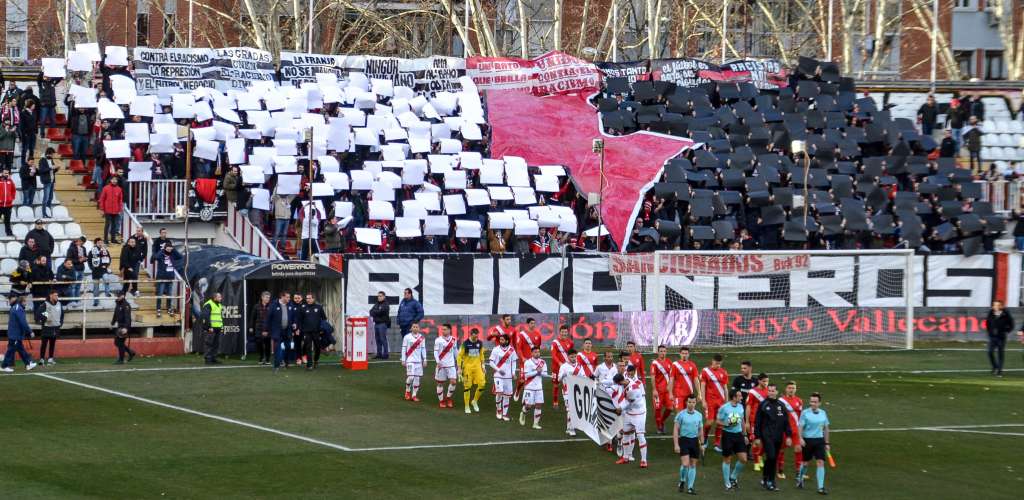
M655 259L657 265L655 267ZM609 254L609 273L612 276L653 275L668 276L751 276L790 270L807 270L811 258L807 254Z

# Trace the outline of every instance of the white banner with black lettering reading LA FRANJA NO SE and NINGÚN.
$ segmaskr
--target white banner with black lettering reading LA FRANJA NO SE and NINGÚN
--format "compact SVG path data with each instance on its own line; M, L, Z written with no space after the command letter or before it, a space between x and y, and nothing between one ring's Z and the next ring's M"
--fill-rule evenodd
M435 55L418 59L377 57L373 55L327 55L296 52L281 53L281 79L298 86L315 81L317 73L334 73L346 78L362 73L368 78L388 80L395 86L422 92L457 92L462 89L459 77L466 75L466 59Z

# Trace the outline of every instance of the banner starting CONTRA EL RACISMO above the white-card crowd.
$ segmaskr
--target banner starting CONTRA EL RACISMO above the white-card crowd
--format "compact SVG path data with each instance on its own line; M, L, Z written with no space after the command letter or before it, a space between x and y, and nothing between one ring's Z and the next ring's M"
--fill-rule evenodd
M197 88L221 92L244 89L254 81L273 81L273 57L247 47L146 48L135 47L135 85L140 95Z

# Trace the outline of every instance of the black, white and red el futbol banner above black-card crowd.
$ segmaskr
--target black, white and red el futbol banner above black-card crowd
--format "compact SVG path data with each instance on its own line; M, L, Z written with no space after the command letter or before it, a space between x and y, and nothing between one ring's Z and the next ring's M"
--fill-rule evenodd
M691 57L652 59L650 71L654 80L672 82L680 87L695 87L711 82L751 82L761 89L786 86L785 69L775 59L739 59L724 65Z

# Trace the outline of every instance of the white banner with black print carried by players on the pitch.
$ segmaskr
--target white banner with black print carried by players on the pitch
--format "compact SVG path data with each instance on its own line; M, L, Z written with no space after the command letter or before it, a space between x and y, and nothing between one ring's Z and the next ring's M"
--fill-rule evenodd
M569 424L598 445L605 445L623 429L615 403L597 382L572 375L565 379L565 411Z

